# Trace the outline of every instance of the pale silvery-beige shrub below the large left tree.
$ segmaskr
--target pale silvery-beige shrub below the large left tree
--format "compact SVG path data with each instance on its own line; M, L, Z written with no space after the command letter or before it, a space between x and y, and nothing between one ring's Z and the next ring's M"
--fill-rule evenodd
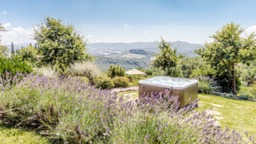
M99 68L90 61L75 62L70 66L70 72L73 76L83 76L89 78L90 82L100 75Z

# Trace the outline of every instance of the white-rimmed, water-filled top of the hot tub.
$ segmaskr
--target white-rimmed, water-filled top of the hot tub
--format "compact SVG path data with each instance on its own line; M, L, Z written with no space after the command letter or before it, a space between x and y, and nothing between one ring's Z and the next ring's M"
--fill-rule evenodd
M172 89L186 89L191 85L197 84L196 79L187 78L171 78L166 76L157 76L153 78L143 79L138 82L138 84L152 85L162 88L172 88Z

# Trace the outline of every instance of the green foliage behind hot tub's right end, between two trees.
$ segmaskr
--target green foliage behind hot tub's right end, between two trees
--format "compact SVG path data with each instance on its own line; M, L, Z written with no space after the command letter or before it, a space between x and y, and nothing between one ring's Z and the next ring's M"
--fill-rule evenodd
M187 57L178 62L177 68L180 70L182 78L189 78L193 71L199 70L202 66L205 66L206 64L207 62L199 56L194 58Z

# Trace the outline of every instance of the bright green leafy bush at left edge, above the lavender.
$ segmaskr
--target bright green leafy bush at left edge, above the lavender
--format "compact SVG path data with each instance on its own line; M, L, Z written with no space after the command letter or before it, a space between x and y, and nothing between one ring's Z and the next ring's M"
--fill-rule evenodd
M17 72L31 73L32 66L27 64L26 60L20 60L16 55L14 59L0 57L0 72L1 77L6 77L6 72L11 72L11 77L15 77Z

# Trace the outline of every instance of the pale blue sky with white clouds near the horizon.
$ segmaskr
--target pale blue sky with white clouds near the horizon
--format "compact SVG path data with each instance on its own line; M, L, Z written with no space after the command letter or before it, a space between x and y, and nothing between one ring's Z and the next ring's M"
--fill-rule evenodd
M231 21L256 31L251 0L3 0L2 43L34 43L32 27L48 15L71 23L88 43L212 42ZM84 39L85 39L84 38Z

